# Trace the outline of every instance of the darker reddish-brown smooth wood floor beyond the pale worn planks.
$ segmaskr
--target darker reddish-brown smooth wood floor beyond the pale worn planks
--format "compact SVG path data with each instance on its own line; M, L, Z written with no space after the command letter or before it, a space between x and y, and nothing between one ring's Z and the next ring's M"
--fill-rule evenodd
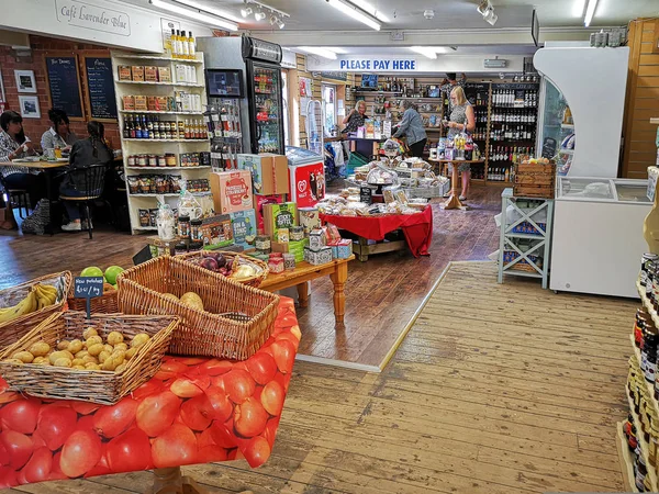
M300 352L378 366L449 261L482 260L499 248L492 217L501 211L502 190L474 188L467 201L470 211L443 211L435 201L428 258L389 252L350 262L344 327L335 327L330 279L313 281L310 307L299 313ZM114 232L97 232L92 240L85 233L0 233L0 289L63 269L78 273L87 266L132 266L145 245L143 236Z

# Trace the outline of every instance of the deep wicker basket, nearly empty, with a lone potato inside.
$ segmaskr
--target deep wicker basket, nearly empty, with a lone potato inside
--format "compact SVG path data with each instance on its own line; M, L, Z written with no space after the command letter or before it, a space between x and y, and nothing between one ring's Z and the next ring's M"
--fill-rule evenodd
M161 256L119 276L119 308L126 314L174 314L181 324L170 352L245 360L269 338L279 296L231 281L177 257ZM178 300L196 292L204 311ZM208 312L206 312L208 311Z

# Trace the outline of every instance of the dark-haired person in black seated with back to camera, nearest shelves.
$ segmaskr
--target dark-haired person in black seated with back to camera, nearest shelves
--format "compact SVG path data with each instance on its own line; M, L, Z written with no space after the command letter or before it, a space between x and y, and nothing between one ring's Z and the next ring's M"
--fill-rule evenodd
M108 165L112 161L112 150L105 144L105 127L103 124L92 120L87 124L87 132L89 133L88 138L77 141L76 144L74 144L67 170L87 168L91 165ZM59 187L59 193L72 198L83 198L99 192L85 190L85 173L82 171L72 172L66 175L64 178L64 181ZM64 200L62 202L69 217L69 223L62 225L62 229L65 232L80 232L82 225L80 224L78 201ZM87 221L89 221L89 218L87 218Z

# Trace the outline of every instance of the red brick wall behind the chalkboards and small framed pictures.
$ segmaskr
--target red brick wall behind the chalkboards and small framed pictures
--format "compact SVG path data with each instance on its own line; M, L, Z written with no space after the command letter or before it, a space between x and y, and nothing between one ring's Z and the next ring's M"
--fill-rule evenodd
M34 70L36 79L36 90L38 97L38 105L41 110L41 119L23 119L23 127L25 135L34 142L40 142L42 134L51 127L48 121L48 87L46 82L46 74L44 66L44 54L47 50L67 50L76 53L79 56L79 64L82 64L82 55L87 50L94 50L94 55L103 55L107 53L110 56L110 49L104 46L92 45L89 43L76 43L65 40L56 40L44 36L30 36L30 45L32 47L32 61L16 61L13 56L13 50L9 46L0 46L0 70L2 71L2 81L4 83L4 93L7 98L7 109L14 110L21 113L19 106L19 92L14 78L14 70ZM80 88L82 90L82 101L86 105L85 92L87 91L86 81L83 80L82 67L79 66ZM34 96L32 93L25 96ZM87 110L87 109L86 109ZM87 112L86 112L87 113ZM105 138L110 142L112 148L121 146L119 137L119 126L116 123L104 123ZM86 122L71 122L71 131L80 137L87 136Z

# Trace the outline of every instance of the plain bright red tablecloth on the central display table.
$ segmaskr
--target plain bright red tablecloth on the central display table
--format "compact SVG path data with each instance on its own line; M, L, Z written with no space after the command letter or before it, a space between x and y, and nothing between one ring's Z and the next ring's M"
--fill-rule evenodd
M384 235L401 228L414 257L429 256L433 243L433 209L428 204L417 214L387 216L335 216L321 214L321 220L371 240L383 240Z

